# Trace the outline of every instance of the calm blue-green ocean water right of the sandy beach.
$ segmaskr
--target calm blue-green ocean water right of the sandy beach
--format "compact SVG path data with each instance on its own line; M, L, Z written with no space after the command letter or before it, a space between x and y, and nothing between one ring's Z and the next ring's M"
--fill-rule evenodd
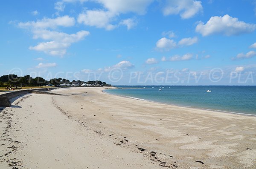
M105 90L105 92L177 106L256 115L256 86L117 87L125 89L111 89ZM211 92L206 92L207 90L211 90Z

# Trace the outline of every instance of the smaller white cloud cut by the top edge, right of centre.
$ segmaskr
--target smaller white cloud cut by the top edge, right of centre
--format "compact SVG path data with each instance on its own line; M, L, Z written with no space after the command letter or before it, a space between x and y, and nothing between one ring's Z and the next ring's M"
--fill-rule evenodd
M188 19L203 11L201 3L197 0L169 0L163 8L163 14L180 14L182 19Z

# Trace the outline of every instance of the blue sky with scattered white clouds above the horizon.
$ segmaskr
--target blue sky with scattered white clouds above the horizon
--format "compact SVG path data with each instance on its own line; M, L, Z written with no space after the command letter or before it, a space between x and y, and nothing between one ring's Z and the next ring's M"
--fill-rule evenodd
M8 0L0 75L256 85L256 0Z

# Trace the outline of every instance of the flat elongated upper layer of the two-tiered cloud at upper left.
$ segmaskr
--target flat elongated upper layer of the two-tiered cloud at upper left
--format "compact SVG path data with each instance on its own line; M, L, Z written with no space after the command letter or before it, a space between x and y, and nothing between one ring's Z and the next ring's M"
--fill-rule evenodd
M69 17L67 15L63 16L63 17L56 17L54 19L51 18L44 18L42 20L37 20L35 21L29 21L26 23L18 23L18 26L20 28L32 28L32 29L47 29L47 28L51 28L51 29L55 29L58 26L64 26L64 27L70 27L70 26L74 26L76 23L76 20L73 17Z

